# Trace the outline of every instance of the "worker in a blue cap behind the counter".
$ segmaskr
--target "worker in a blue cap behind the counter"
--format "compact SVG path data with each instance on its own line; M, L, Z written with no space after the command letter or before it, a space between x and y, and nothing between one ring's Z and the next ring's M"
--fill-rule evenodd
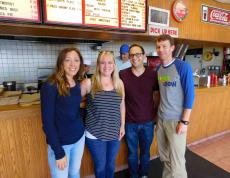
M131 67L131 63L129 61L129 45L128 44L121 45L120 56L116 58L116 65L117 65L118 71Z

